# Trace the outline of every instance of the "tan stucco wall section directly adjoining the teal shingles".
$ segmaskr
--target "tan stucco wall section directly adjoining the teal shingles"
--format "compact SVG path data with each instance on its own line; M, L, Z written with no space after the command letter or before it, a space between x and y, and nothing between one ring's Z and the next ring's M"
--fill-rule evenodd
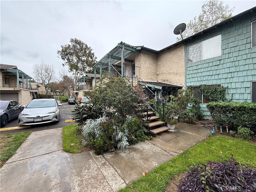
M185 87L184 45L166 50L157 56L157 80Z

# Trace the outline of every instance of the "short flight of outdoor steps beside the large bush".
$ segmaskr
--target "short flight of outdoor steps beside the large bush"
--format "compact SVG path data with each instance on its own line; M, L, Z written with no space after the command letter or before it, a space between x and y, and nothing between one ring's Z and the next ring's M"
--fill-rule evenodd
M154 134L155 136L158 133L164 132L164 131L168 131L169 128L164 126L165 122L164 121L160 121L158 116L154 116L153 115L154 112L149 111L149 112L144 112L142 113L143 118L141 118L143 121L148 121L148 131L152 134ZM146 117L145 117L146 116Z

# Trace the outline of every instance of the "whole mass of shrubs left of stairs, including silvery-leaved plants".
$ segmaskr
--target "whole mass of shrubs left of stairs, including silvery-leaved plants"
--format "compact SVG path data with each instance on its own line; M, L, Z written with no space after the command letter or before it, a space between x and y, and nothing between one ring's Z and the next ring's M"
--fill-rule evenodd
M122 77L110 78L95 86L91 96L86 104L76 99L72 114L96 154L149 139L139 118L148 106L141 86L133 87Z

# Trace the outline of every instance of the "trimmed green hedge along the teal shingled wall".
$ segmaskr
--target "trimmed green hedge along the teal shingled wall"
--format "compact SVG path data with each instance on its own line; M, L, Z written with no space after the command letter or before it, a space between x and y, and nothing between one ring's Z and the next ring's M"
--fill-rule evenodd
M256 129L256 103L209 102L206 107L220 126Z

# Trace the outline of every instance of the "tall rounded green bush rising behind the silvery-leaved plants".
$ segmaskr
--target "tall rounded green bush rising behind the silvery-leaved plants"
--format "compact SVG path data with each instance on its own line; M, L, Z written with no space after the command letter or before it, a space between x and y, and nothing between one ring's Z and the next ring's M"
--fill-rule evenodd
M91 96L95 110L103 110L107 117L116 118L120 123L124 123L126 115L140 115L147 105L142 86L133 87L123 77L109 78L94 86Z

